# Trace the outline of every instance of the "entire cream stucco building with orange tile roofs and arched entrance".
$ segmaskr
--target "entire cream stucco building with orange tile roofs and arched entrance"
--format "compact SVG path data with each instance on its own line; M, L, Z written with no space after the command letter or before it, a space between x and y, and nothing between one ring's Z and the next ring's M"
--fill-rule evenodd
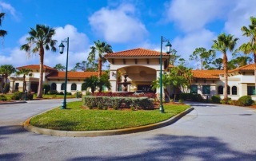
M149 49L129 49L117 53L107 53L104 56L110 62L109 91L122 91L124 84L127 92L136 90L151 91L151 83L160 75L160 53ZM162 53L162 73L168 73L170 55ZM26 89L38 91L39 65L26 65L17 69L31 69L26 76ZM50 84L52 90L64 90L65 72L58 72L49 66L43 67L43 82ZM219 95L223 98L223 70L193 70L193 82L190 92L201 94L204 99ZM82 91L84 79L98 76L98 72L68 72L67 92ZM238 100L241 96L255 97L254 65L245 65L228 72L228 97ZM10 77L10 92L22 91L23 76ZM154 91L159 93L159 88ZM169 88L171 93L171 89ZM84 91L85 92L85 91Z

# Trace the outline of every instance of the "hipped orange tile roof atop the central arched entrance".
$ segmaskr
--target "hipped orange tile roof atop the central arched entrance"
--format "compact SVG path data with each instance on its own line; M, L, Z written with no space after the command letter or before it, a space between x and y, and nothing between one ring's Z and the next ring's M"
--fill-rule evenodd
M106 53L104 57L155 57L160 56L160 52L150 49L129 49L117 53ZM162 56L170 56L167 53L162 53Z

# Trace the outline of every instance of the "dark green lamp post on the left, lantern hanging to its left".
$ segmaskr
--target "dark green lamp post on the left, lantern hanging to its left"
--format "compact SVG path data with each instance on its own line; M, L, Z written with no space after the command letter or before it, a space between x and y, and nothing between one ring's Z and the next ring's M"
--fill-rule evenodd
M66 109L66 81L67 81L67 65L69 61L69 37L67 37L64 41L66 42L67 48L66 48L66 73L65 73L65 84L64 84L64 100L62 102L62 108L61 109ZM64 51L64 45L61 43L59 46L59 53L63 53Z

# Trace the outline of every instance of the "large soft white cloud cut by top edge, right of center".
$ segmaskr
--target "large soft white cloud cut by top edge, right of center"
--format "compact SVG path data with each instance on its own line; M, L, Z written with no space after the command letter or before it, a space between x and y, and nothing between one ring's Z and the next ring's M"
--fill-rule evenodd
M184 32L202 29L225 15L227 1L173 0L166 5L168 22L174 22Z

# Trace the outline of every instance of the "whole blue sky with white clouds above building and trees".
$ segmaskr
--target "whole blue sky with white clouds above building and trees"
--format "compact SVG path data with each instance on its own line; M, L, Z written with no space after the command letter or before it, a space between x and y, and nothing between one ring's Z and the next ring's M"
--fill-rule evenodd
M114 52L159 51L163 36L188 60L195 48L210 49L220 33L238 37L238 45L248 41L240 29L256 17L255 6L255 0L0 0L0 12L6 13L0 29L8 32L0 39L0 65L39 64L38 54L29 59L19 49L36 24L56 29L57 46L70 37L69 69L87 60L97 40L112 45ZM66 55L46 52L44 61L51 67L65 65ZM194 62L189 66L196 68Z

